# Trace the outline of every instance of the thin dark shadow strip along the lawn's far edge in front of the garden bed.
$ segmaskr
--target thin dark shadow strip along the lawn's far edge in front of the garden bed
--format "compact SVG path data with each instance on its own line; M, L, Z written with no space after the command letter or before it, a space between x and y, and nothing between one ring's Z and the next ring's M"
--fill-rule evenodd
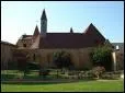
M15 85L48 85L48 84L61 84L61 83L77 83L77 82L89 82L89 81L95 81L92 79L86 79L86 80L70 80L70 79L65 79L65 80L41 80L41 81L3 81L1 82L2 84L15 84Z

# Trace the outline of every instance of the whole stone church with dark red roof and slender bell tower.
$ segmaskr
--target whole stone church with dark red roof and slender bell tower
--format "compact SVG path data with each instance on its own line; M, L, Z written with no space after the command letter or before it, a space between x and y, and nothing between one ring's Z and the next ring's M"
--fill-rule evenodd
M22 35L16 48L12 49L13 61L22 63L26 61L41 63L42 67L53 67L53 54L67 51L70 54L75 68L91 68L90 51L93 47L104 45L105 37L91 23L83 33L47 33L47 16L43 10L41 16L41 31L37 25L33 35Z

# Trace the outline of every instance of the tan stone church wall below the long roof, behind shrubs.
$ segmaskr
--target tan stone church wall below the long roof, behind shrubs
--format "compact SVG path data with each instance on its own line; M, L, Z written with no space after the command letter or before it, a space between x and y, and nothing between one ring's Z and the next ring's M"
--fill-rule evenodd
M53 54L56 51L65 50L70 54L71 62L75 65L76 69L82 69L83 67L91 68L89 53L91 48L81 49L34 49L29 50L30 60L41 62L42 67L50 67L53 63ZM34 60L35 55L35 60Z

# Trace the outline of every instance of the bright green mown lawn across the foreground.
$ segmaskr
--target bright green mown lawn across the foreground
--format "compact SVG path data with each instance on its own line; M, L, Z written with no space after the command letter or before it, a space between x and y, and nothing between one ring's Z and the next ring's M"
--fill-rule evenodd
M1 84L1 92L124 92L123 80Z

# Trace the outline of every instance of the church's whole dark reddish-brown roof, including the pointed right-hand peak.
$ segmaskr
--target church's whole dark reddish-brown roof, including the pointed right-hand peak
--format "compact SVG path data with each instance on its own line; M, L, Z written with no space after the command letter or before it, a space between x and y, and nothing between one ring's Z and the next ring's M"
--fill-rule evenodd
M84 33L46 33L41 34L32 48L87 48L104 44L105 38L90 24Z

